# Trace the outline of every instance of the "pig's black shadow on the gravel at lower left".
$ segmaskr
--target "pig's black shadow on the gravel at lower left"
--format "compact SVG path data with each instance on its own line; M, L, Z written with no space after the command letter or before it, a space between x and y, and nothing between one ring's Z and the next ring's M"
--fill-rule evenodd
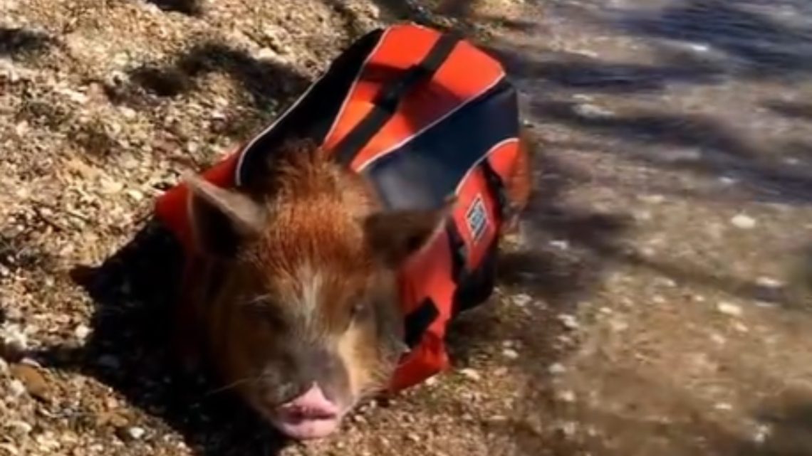
M275 454L281 437L205 373L182 372L169 350L171 308L179 283L179 244L150 221L98 267L71 276L92 297L93 333L80 349L42 355L56 368L76 370L119 391L161 419L203 456Z

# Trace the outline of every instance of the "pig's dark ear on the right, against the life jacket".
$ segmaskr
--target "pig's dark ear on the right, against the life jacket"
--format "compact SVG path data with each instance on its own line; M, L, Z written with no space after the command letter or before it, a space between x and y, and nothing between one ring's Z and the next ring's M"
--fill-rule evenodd
M450 197L439 209L399 210L375 213L366 217L367 242L387 266L396 268L412 254L425 247L445 225L456 203Z

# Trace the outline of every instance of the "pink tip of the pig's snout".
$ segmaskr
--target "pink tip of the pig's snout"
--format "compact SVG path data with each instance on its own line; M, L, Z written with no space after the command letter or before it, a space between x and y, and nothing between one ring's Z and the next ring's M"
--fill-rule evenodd
M298 398L279 406L274 415L279 430L299 440L326 437L341 423L339 407L326 398L317 384Z

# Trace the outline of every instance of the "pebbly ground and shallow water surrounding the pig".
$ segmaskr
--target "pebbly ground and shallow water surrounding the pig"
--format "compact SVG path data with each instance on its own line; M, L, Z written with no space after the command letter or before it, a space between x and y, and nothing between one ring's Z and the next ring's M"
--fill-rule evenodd
M173 370L151 204L407 18L503 58L533 207L452 372L284 444ZM812 455L810 75L805 0L0 0L0 454Z

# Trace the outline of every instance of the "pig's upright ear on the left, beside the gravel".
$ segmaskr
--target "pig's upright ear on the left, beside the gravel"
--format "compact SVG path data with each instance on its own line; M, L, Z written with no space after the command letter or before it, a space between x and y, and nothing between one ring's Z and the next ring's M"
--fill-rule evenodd
M240 243L261 234L266 221L266 210L261 204L194 174L186 174L183 179L189 188L192 234L202 252L231 256Z

